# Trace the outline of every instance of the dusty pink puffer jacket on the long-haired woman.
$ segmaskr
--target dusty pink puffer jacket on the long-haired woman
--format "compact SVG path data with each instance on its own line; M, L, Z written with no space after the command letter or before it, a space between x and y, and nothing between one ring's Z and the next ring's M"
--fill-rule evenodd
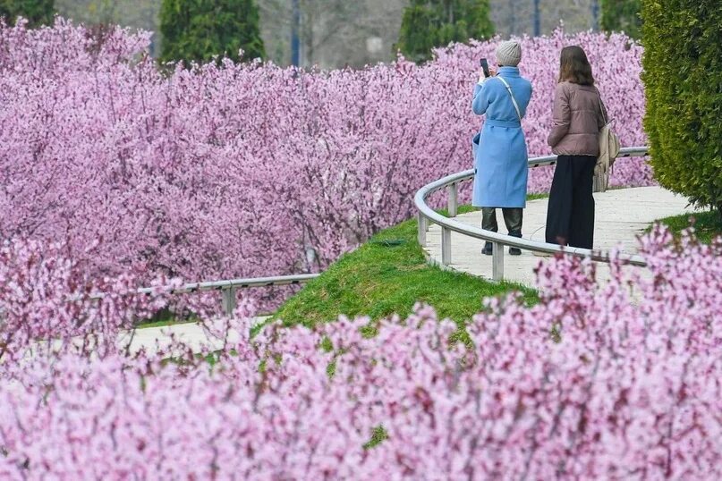
M554 97L554 124L547 142L557 156L599 156L599 131L607 110L592 85L561 82Z

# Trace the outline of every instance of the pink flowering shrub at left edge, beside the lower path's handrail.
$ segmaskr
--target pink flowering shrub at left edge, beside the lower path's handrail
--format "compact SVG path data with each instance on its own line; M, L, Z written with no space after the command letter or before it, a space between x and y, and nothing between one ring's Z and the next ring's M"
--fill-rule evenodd
M0 362L73 338L82 353L115 350L119 329L164 307L160 292L133 295L138 274L91 279L60 246L9 242L0 248Z

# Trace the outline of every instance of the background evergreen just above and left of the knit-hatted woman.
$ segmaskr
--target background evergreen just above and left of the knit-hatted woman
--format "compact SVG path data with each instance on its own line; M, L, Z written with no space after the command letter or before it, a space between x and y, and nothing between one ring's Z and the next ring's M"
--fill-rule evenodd
M431 49L494 35L488 0L412 0L403 11L396 48L414 62L431 58Z

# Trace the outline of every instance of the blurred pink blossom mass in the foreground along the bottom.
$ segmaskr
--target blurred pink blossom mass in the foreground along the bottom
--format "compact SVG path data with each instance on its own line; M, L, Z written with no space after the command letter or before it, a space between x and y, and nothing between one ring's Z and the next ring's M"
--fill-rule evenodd
M560 257L537 306L487 300L466 337L419 307L374 335L234 319L210 368L182 345L4 363L0 477L719 479L722 244L641 242L649 279Z

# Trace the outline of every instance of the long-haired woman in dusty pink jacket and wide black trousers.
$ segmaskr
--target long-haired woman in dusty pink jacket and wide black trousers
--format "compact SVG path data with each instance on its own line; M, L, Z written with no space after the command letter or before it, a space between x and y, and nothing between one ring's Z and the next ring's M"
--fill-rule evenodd
M592 248L591 188L599 156L599 131L606 118L587 55L580 46L566 46L554 98L554 125L548 137L549 146L559 157L549 191L547 242Z

